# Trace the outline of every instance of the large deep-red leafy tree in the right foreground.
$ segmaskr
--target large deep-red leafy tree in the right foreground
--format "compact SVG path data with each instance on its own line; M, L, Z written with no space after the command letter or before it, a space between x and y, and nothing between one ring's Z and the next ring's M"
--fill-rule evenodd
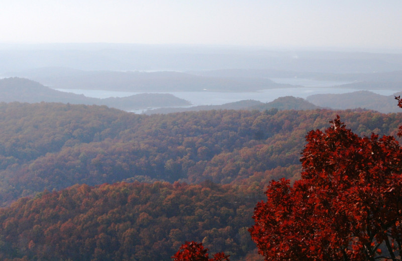
M401 260L398 142L360 138L339 116L330 122L307 135L302 178L270 183L267 201L255 208L252 239L265 260Z

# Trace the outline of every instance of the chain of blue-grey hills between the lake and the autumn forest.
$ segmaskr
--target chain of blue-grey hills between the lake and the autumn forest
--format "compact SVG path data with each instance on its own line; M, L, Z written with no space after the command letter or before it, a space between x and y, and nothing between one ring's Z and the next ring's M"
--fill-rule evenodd
M282 84L281 86L283 87L284 85ZM365 85L362 85L362 83L356 83L353 86L360 86L363 88ZM395 93L394 95L400 95L400 93ZM203 105L190 107L191 104L188 101L167 93L141 93L128 97L99 99L57 91L43 86L38 82L24 78L5 78L0 80L0 101L4 102L19 101L35 103L45 101L87 105L96 104L107 105L109 107L126 111L142 110L146 114L211 109L265 110L277 108L279 110L304 110L320 107L333 109L365 108L388 113L398 112L398 107L393 105L394 95L384 96L370 91L356 91L345 94L311 95L307 97L307 100L303 98L285 96L279 97L274 101L267 103L256 100L241 100L223 105ZM150 109L153 107L157 107L158 109Z

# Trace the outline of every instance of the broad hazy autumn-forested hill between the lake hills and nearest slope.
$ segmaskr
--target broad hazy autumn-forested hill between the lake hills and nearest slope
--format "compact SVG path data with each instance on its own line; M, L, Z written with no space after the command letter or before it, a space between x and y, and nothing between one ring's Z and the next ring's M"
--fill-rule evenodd
M401 114L363 110L137 115L95 105L1 103L0 199L7 204L77 183L292 177L307 132L336 114L360 135L395 135L402 122Z

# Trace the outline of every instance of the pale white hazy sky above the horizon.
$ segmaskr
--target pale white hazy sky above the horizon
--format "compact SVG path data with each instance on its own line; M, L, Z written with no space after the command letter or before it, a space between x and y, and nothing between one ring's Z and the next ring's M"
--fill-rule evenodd
M1 0L0 43L402 50L401 0Z

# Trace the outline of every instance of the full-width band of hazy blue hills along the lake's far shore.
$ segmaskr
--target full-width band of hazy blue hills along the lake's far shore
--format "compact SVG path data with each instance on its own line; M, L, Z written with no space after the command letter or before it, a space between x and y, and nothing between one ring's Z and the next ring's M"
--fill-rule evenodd
M297 87L276 83L275 78L302 78L334 82L338 88L400 89L402 71L335 74L258 69L213 71L84 71L65 67L46 67L9 72L13 77L38 81L54 89L95 89L133 92L163 91L257 91ZM6 74L6 75L7 75Z

